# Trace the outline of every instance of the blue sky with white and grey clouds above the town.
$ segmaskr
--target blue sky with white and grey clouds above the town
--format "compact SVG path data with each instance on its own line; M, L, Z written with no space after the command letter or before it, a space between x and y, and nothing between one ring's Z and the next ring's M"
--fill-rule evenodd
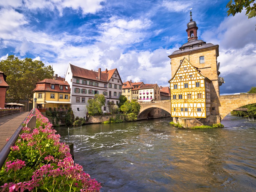
M168 55L187 40L192 8L198 39L219 44L220 94L256 86L256 19L227 16L229 0L0 1L0 60L41 60L64 77L68 64L117 68L122 81L170 86Z

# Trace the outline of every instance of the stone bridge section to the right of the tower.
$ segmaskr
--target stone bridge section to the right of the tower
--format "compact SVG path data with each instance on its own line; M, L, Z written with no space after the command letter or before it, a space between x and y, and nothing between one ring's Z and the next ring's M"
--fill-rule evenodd
M220 100L220 116L221 120L231 111L244 105L256 103L256 93L242 95L221 95Z

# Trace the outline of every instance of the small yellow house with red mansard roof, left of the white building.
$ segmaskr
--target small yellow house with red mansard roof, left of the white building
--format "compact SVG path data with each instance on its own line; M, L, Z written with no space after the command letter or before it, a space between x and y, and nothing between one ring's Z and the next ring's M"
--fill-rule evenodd
M33 90L33 108L69 108L70 86L66 81L44 79Z

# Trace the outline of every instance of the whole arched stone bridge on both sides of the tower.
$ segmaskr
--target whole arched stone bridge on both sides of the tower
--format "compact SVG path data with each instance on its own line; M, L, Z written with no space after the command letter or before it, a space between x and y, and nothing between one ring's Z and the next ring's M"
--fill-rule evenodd
M218 101L219 109L216 109L218 114L214 115L220 115L221 121L231 111L244 105L256 103L256 93L246 93L242 95L221 95L219 96ZM171 114L171 100L140 102L140 106L138 119L147 118L147 114L153 108L161 108Z

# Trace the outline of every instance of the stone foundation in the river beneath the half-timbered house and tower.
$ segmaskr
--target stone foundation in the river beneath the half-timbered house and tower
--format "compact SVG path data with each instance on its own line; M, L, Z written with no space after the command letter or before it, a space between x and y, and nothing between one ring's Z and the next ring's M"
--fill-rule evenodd
M185 128L220 123L219 115L210 115L207 118L173 117L173 122L181 124Z

